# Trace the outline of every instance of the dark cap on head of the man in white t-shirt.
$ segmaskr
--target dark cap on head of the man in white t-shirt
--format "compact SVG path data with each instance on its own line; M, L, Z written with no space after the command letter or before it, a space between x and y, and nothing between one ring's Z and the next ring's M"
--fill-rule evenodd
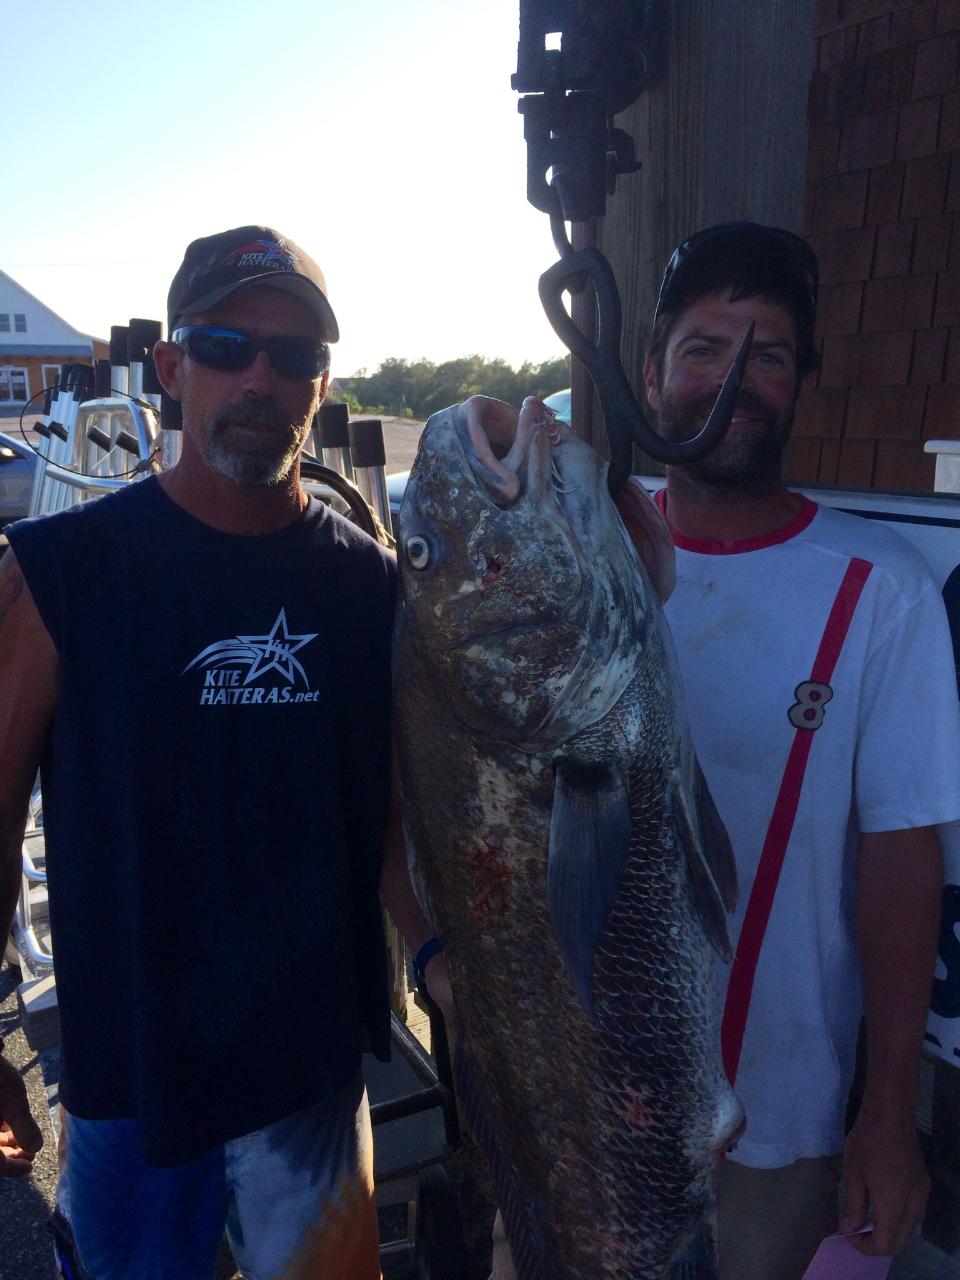
M673 251L663 273L654 323L660 311L673 311L696 288L696 275L710 260L727 255L750 259L782 274L797 288L810 308L810 316L817 314L819 268L817 255L805 241L780 227L722 223L698 232Z

